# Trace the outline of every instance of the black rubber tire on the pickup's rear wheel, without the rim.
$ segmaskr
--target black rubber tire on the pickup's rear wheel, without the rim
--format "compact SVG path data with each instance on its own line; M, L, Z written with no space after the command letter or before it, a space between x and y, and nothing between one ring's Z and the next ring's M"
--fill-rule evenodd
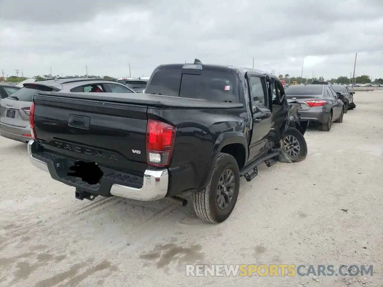
M222 199L223 197L219 196L217 192L221 176L223 176L223 173L227 170L232 171L235 182L234 186L231 187L231 201L227 204L227 207L222 210L218 205L218 198ZM238 199L239 180L240 175L236 159L228 153L219 153L208 186L193 194L193 207L196 215L208 223L221 223L228 219ZM226 191L226 189L224 190ZM227 190L229 191L229 188ZM223 189L221 192L223 192ZM224 199L227 199L227 196L224 197Z

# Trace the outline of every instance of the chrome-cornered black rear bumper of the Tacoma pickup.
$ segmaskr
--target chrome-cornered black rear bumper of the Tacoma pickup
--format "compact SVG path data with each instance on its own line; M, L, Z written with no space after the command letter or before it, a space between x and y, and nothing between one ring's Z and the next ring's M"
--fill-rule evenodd
M169 188L169 171L167 169L148 168L142 176L102 167L104 175L100 183L90 185L80 178L67 175L69 163L73 163L76 161L75 159L38 152L38 143L35 140L28 142L28 157L32 165L49 172L53 179L91 194L155 201L164 198Z

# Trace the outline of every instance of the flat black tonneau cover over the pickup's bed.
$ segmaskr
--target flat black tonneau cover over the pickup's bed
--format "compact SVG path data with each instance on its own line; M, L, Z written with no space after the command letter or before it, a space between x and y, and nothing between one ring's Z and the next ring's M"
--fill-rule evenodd
M139 104L145 106L174 107L174 108L243 108L242 103L213 102L204 99L191 99L165 95L143 93L60 93L41 92L36 96L53 96L74 100L102 101L105 103Z

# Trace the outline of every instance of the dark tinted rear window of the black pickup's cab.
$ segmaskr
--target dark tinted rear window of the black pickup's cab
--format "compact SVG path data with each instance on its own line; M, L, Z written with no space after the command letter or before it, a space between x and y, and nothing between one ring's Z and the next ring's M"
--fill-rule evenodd
M182 72L159 70L153 76L146 93L216 102L239 102L236 74L231 75L228 71Z

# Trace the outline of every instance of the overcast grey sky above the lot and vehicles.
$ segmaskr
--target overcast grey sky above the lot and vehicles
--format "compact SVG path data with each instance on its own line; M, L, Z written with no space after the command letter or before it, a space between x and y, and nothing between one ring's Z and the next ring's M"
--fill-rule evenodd
M56 2L56 3L55 3ZM159 64L383 77L383 0L0 0L0 72L150 76Z

